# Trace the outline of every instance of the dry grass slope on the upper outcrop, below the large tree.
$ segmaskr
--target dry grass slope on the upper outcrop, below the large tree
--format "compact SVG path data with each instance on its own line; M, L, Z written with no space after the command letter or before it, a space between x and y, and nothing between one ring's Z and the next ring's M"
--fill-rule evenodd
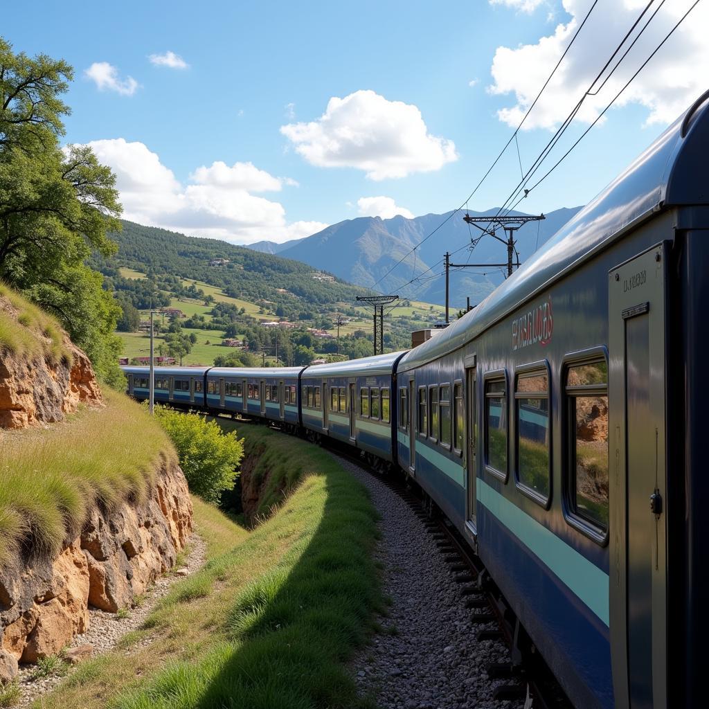
M57 320L3 283L0 298L17 311L13 317L0 301L0 354L41 355L55 362L64 359L71 363L72 353L65 347Z

